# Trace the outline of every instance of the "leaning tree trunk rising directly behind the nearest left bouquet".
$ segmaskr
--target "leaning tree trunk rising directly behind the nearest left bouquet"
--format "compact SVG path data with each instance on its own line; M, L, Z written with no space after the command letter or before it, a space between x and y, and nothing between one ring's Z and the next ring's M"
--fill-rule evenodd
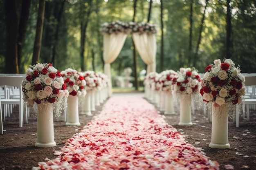
M45 0L39 0L38 17L36 22L36 38L34 42L32 65L39 62L41 41L43 34L43 20L45 15Z

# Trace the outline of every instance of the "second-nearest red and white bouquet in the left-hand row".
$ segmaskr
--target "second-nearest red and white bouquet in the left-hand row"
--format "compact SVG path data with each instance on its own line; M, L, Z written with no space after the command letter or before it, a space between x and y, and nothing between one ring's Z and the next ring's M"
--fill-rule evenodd
M67 68L64 71L61 71L61 76L64 79L70 95L79 97L83 97L86 95L86 82L82 73L72 68Z

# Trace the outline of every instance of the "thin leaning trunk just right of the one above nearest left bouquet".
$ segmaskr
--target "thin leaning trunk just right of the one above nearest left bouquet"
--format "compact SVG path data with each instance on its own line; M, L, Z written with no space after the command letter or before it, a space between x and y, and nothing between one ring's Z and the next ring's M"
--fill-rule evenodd
M61 7L58 11L57 16L55 16L57 24L56 24L55 35L54 35L54 45L53 45L53 48L52 48L52 64L54 64L54 60L55 60L55 57L56 57L56 46L58 44L58 30L59 30L59 25L60 25L60 21L61 21L61 15L62 15L63 8L64 8L64 3L65 3L65 0L63 0L61 2ZM54 11L57 11L58 6L59 6L59 3L57 2L56 3L56 10L54 10Z

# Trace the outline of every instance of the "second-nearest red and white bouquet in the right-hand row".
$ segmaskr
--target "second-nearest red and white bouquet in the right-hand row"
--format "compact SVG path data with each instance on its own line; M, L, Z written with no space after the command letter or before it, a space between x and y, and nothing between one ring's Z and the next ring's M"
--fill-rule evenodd
M172 81L174 94L199 94L201 80L195 68L180 68Z

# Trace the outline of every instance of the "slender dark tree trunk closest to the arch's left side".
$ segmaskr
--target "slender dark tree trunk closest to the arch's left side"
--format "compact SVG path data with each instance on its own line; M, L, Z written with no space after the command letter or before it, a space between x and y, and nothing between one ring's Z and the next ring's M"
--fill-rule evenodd
M89 21L89 16L91 13L91 4L92 4L92 0L89 0L87 9L84 9L84 5L83 5L83 7L81 6L81 10L82 10L81 11L81 40L80 40L80 42L81 42L81 49L80 49L81 71L85 71L85 66L84 66L85 38L86 38L86 29L87 29L87 25L88 25L88 21ZM84 14L83 10L86 10L85 14Z

